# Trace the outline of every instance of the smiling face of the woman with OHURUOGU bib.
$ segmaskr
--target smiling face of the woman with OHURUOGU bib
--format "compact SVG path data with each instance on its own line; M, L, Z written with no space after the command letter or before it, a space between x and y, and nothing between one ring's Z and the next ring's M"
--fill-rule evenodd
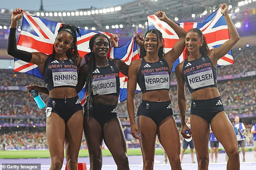
M109 52L109 41L104 36L99 36L94 40L92 51L95 56L106 57Z

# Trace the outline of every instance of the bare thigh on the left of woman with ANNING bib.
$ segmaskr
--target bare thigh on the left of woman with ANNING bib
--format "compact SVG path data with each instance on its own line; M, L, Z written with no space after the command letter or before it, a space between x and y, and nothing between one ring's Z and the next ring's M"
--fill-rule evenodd
M65 121L54 112L46 117L46 138L51 157L64 158Z

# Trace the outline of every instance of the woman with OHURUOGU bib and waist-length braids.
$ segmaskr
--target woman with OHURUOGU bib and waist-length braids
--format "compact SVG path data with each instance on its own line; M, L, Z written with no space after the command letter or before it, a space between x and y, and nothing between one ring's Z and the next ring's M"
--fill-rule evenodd
M88 97L84 108L84 134L90 170L100 170L102 167L103 140L118 170L129 170L124 132L115 109L120 92L119 72L127 76L129 66L120 59L107 58L110 41L105 35L94 35L89 47L91 54L88 62L80 68L78 91L86 82Z

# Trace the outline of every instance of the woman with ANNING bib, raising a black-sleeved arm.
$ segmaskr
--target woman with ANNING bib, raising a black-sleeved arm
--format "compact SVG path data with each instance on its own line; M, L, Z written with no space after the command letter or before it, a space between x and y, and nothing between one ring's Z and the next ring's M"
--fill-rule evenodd
M62 168L64 143L67 168L75 170L83 133L83 111L76 92L78 82L76 61L79 55L76 31L79 34L80 31L76 27L63 25L58 31L53 52L49 56L41 52L17 50L15 33L17 21L22 15L23 9L13 10L7 52L19 60L38 65L44 77L47 88L34 84L27 85L27 88L29 91L36 89L49 94L46 108L46 137L51 157L50 170Z

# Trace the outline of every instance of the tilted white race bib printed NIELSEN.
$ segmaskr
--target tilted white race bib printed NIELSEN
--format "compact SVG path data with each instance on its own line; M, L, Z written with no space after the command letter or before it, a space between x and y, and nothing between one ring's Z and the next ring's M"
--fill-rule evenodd
M214 85L214 77L211 67L201 68L199 70L187 73L189 86L192 89Z

